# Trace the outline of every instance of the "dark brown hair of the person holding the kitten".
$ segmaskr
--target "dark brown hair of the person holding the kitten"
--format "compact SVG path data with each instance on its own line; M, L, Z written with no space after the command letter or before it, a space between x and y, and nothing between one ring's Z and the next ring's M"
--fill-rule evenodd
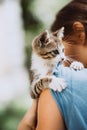
M87 34L87 0L72 0L63 7L56 15L51 31L55 32L64 26L64 35L66 36L72 32L72 25L76 21L84 25Z

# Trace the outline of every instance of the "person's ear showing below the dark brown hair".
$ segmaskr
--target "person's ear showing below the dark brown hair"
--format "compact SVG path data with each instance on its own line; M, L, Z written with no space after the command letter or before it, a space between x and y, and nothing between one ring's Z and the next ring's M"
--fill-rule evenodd
M81 44L84 44L86 38L84 25L81 22L76 21L73 23L72 28L74 37L78 39Z

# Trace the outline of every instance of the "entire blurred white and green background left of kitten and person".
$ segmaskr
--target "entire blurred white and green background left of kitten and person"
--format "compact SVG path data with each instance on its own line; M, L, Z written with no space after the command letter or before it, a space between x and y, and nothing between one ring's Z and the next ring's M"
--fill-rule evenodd
M17 130L31 106L28 70L32 39L50 29L71 0L0 0L0 130Z

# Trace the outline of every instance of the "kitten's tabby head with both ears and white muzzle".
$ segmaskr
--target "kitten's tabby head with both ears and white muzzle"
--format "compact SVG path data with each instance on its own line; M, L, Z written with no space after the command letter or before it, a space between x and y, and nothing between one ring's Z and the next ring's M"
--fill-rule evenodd
M51 59L60 55L64 49L62 44L63 32L64 27L51 34L47 30L44 31L33 40L33 51L43 59Z

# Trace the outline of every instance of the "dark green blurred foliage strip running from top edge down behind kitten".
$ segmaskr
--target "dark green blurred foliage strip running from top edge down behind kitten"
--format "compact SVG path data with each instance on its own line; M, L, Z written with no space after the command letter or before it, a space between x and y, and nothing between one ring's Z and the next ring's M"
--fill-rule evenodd
M25 66L29 69L30 67L30 56L31 56L31 42L37 32L43 27L42 22L34 15L31 10L32 4L35 0L21 0L22 7L22 18L25 29L25 54L26 61Z

